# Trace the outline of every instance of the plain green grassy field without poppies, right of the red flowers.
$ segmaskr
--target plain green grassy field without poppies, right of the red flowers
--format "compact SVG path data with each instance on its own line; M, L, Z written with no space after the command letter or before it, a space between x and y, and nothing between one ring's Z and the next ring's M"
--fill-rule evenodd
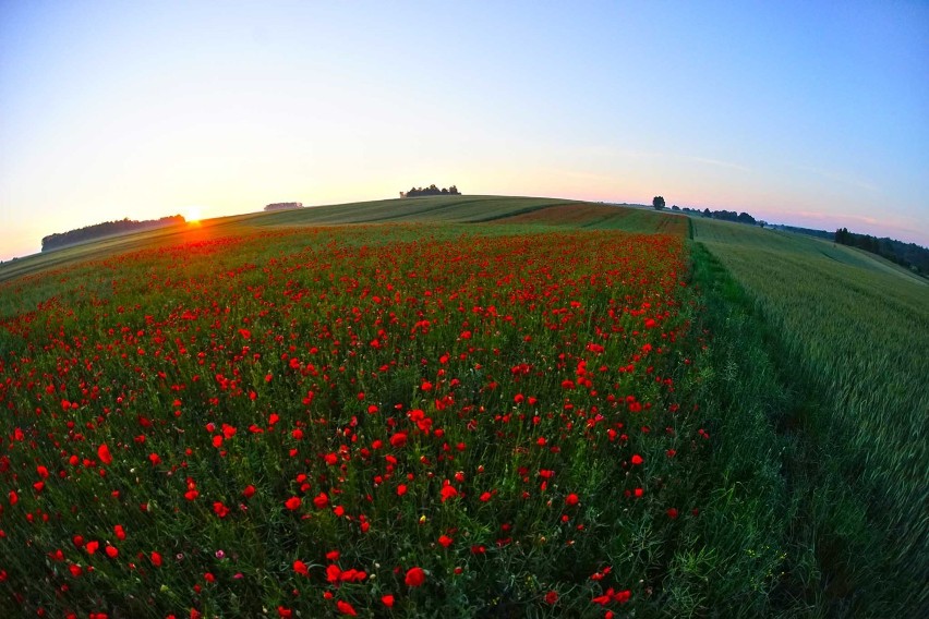
M929 287L816 239L703 219L693 232L760 318L788 398L770 421L793 445L785 545L812 551L807 602L836 616L925 607Z

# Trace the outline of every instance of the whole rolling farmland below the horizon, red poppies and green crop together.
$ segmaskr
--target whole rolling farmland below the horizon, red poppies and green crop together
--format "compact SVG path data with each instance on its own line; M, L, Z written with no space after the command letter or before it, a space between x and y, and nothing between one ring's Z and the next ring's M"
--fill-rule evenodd
M929 286L553 198L0 265L0 616L919 616Z

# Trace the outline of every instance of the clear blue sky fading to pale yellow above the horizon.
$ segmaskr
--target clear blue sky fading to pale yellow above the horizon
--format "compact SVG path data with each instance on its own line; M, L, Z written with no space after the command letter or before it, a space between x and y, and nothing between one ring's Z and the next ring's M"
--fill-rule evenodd
M929 246L929 3L0 0L0 259L432 183Z

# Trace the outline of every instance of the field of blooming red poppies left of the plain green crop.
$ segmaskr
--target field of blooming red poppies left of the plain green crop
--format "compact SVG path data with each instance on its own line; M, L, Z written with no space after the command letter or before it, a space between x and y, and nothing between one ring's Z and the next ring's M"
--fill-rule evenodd
M660 614L715 438L679 228L193 231L3 283L0 608Z

